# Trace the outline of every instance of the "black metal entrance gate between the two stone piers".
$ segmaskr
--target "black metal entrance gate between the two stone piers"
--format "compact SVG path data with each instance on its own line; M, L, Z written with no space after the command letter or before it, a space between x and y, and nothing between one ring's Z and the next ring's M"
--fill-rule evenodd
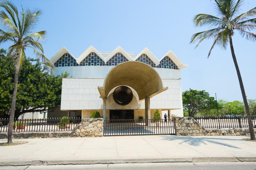
M174 134L174 120L104 120L104 136Z

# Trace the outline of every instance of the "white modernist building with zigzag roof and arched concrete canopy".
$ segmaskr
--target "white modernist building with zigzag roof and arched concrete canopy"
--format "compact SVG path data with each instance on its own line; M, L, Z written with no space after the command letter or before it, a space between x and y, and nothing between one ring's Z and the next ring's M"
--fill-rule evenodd
M148 48L138 55L120 46L100 52L90 46L78 58L62 47L52 58L63 78L60 111L48 117L150 119L159 112L183 116L180 69L187 67L172 51L158 60Z

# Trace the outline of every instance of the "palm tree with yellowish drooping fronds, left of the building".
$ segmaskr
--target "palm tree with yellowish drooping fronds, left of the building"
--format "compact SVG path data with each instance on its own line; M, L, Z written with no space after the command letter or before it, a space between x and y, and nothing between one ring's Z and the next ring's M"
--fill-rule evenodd
M45 65L51 68L53 68L53 65L51 61L44 56L43 47L41 43L39 43L40 40L45 38L46 31L32 33L42 12L40 10L30 11L29 9L24 10L22 8L22 11L19 13L17 7L10 1L2 1L0 7L3 8L3 10L0 11L0 20L2 26L6 29L5 31L0 29L0 44L11 42L7 56L12 57L15 67L14 89L8 125L8 143L12 143L12 125L16 104L18 74L21 70L24 58L26 58L25 50L28 48L33 49L36 56L41 58Z

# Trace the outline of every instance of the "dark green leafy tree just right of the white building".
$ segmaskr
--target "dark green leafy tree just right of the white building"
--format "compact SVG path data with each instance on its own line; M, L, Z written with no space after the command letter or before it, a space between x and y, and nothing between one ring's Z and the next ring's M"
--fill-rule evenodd
M211 116L212 113L209 111L216 108L216 100L214 97L210 97L208 92L205 90L187 90L182 93L183 109L184 114L190 117L196 115ZM216 114L216 112L215 112Z

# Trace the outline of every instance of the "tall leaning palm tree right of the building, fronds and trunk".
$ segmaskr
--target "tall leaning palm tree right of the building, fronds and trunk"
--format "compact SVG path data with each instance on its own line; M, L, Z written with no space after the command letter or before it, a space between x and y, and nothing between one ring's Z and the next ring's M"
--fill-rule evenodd
M197 47L204 40L214 39L212 47L208 53L208 58L214 46L218 45L226 49L229 43L248 117L251 140L255 140L252 118L244 91L244 84L236 61L232 36L235 34L235 31L238 31L238 33L247 40L256 41L256 34L250 32L256 28L256 7L252 8L248 12L235 16L239 12L244 0L214 1L217 14L220 17L209 14L197 14L194 18L195 26L207 26L212 29L192 35L190 43L198 41L196 45Z

